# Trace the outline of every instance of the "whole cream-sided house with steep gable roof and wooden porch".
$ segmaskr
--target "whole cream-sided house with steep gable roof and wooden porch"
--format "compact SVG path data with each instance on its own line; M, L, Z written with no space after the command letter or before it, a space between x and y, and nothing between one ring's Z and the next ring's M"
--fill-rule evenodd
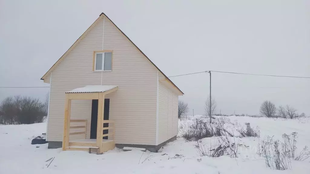
M176 139L183 92L104 13L41 80L48 148L155 152Z

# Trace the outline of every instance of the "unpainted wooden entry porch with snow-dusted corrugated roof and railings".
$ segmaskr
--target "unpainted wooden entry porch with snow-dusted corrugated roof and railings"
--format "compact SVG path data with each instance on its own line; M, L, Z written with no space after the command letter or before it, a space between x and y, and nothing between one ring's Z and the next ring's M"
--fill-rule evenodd
M97 149L98 153L102 153L114 149L115 122L113 120L104 120L103 115L105 95L117 89L118 86L116 85L90 85L65 93L63 150L88 151L89 148L94 148ZM70 119L71 100L98 100L96 139L86 138L86 119ZM73 124L70 125L70 123ZM104 131L108 131L108 133ZM84 138L70 140L70 135L78 134L82 134Z

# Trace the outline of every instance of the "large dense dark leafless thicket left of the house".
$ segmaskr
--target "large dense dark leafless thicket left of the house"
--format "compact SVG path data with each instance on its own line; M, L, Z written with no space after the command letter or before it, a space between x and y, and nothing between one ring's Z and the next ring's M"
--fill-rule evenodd
M44 104L38 98L7 97L0 105L2 124L42 123L47 115Z

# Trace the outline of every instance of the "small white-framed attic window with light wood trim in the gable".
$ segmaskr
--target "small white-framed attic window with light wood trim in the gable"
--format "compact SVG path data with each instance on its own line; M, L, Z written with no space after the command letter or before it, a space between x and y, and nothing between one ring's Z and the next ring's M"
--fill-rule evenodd
M94 70L112 71L112 51L95 53Z

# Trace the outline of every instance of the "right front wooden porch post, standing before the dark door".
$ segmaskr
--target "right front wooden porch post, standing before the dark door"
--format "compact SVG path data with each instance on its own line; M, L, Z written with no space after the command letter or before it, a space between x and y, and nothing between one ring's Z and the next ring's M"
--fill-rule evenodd
M103 113L104 113L104 94L99 93L96 144L97 147L99 147L100 153L102 149L102 139L103 139Z

